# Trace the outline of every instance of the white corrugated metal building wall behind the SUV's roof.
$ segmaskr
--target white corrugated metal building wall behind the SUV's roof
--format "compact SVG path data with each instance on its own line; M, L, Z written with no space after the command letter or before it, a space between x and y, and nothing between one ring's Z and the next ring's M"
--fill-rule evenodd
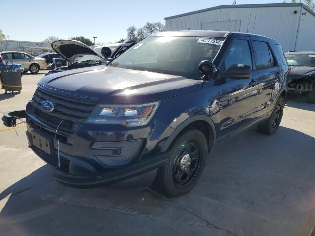
M282 44L284 51L288 51L294 50L295 47L301 9L304 8L301 6L219 8L166 19L166 31L190 28L248 32L274 38ZM309 12L308 15L315 19ZM310 43L304 46L311 49Z

